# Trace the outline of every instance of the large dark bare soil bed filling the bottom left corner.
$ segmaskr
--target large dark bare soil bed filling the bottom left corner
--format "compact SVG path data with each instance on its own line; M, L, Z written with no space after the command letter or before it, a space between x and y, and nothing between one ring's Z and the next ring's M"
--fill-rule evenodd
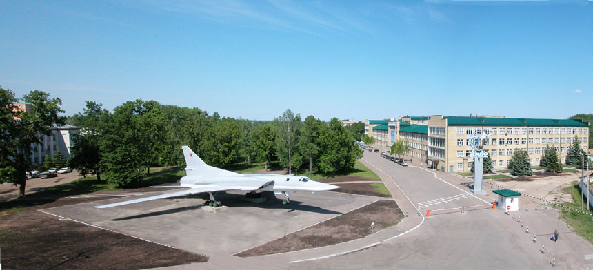
M208 256L146 242L44 214L38 209L105 198L23 201L0 213L3 269L145 269ZM26 208L19 208L29 206Z

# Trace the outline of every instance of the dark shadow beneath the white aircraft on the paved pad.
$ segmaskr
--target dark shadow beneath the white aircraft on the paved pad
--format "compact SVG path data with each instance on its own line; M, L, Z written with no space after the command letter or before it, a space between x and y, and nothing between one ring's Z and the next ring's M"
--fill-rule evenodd
M268 200L266 200L263 203L250 203L250 202L246 202L241 200L241 198L243 198L245 195L241 195L241 194L228 194L225 192L221 192L219 194L216 195L217 200L220 200L222 202L223 205L226 205L230 208L239 208L239 207L257 207L257 208L262 208L262 209L286 209L286 211L288 212L292 212L292 211L308 211L308 212L314 212L314 213L318 213L318 214L343 214L342 212L339 211L333 211L333 210L329 210L329 209L323 209L321 207L316 207L314 205L305 205L303 204L303 202L298 201L298 200L290 200L290 204L288 205L284 205L282 203L282 200L279 200L278 198L276 198L276 196L274 196L274 194L272 194L272 192L262 192L260 193L262 197L267 198ZM169 198L169 200L183 200L185 198L203 198L203 199L208 199L208 194L197 194L197 195L190 195L190 196L180 196L180 197L174 197L174 198ZM183 211L189 211L189 210L199 210L200 207L203 207L204 205L192 205L192 206L187 206L187 207L178 207L178 208L174 208L174 209L167 209L167 210L162 210L162 211L155 211L155 212L150 212L150 213L146 213L146 214L139 214L139 215L134 215L134 216L125 216L122 218L114 218L112 219L113 221L122 221L122 220L132 220L132 219L136 219L136 218L148 218L151 216L161 216L161 215L167 215L167 214L175 214L175 213L181 213Z

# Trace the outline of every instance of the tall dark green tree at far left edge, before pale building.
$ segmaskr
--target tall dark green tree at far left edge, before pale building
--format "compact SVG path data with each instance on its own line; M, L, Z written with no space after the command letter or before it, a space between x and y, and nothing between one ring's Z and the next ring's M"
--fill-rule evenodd
M25 195L26 172L33 167L30 154L32 145L41 143L42 135L50 135L54 124L63 124L58 116L63 110L59 98L34 90L22 100L31 105L30 112L15 112L14 93L0 88L0 182L19 185L19 196Z

